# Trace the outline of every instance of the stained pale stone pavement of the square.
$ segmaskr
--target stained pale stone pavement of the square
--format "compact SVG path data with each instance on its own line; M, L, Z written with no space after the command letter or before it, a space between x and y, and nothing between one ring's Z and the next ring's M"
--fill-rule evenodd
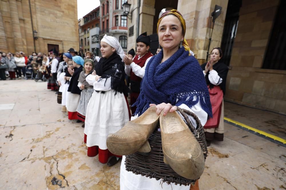
M120 163L107 167L98 156L86 156L82 123L67 119L46 86L0 81L0 189L119 189ZM225 103L225 115L249 121L250 108L240 109ZM259 113L254 116L261 128L272 128L264 121L274 118L285 133L285 116ZM225 123L224 141L208 150L200 190L286 189L285 147Z

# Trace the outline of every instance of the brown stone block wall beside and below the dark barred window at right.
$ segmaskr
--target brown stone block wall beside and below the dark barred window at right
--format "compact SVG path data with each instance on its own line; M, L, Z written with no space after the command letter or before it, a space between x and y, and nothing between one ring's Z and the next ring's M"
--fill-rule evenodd
M261 69L279 0L243 0L225 99L286 113L286 71Z

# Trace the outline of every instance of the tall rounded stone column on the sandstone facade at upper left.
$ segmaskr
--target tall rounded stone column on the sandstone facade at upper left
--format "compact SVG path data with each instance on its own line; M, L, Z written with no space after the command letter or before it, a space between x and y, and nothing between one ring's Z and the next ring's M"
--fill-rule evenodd
M14 44L15 44L15 51L23 51L23 41L20 29L20 22L19 22L19 15L17 9L17 2L16 0L9 1L10 6L10 16L13 28L13 37L14 37Z

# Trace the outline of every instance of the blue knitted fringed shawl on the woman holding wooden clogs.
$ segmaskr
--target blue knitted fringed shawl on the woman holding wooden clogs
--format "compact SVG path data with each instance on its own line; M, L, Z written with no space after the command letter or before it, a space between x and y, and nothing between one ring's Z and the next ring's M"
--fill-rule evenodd
M144 113L150 103L170 103L176 106L185 104L191 108L200 101L202 109L208 117L212 117L206 80L194 56L189 56L189 52L182 47L160 64L162 58L163 51L160 51L146 66L140 95L134 103L137 106L135 115Z

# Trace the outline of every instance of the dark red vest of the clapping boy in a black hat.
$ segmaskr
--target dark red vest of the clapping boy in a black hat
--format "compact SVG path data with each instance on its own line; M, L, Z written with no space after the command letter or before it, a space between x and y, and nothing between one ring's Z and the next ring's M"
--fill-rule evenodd
M151 52L147 52L142 58L138 60L139 55L136 55L133 59L133 62L142 68L144 67L146 60L152 56L153 54ZM142 81L142 78L136 76L135 73L133 73L131 69L130 70L130 88L132 92L140 93L141 81Z

